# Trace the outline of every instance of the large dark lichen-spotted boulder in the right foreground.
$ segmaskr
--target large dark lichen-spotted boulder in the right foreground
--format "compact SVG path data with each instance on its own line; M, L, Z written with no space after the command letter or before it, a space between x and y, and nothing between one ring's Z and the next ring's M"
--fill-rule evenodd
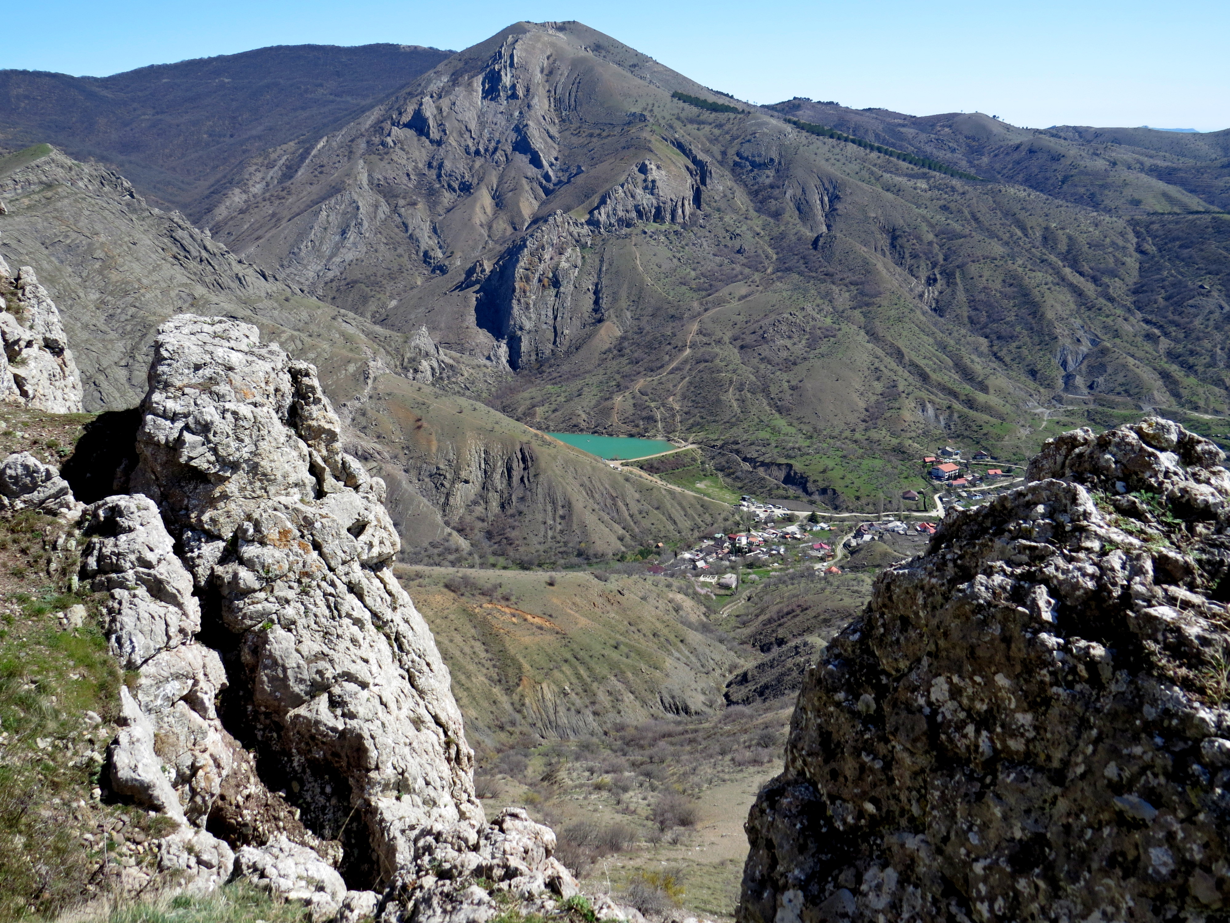
M1213 919L1230 474L1149 418L1047 443L808 673L742 921Z

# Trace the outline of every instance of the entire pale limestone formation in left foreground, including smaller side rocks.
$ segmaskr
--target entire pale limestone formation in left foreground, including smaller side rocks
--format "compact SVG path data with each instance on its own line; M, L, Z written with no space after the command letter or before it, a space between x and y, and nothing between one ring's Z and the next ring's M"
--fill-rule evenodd
M137 469L87 507L32 454L0 464L0 511L73 523L58 548L80 550L129 671L103 796L171 832L121 890L246 877L317 923L483 923L577 897L550 828L483 816L448 668L392 576L384 484L341 450L316 370L256 327L178 315L141 415Z

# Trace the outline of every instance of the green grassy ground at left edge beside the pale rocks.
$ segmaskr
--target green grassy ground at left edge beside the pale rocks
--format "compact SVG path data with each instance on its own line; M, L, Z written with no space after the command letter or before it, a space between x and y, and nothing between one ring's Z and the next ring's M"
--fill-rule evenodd
M2 409L0 458L30 450L55 463L89 418ZM57 551L63 533L44 516L0 519L0 919L54 917L108 893L123 863L144 861L138 841L167 832L96 797L122 676L92 594L71 592L76 555ZM59 619L73 604L87 608L81 628Z

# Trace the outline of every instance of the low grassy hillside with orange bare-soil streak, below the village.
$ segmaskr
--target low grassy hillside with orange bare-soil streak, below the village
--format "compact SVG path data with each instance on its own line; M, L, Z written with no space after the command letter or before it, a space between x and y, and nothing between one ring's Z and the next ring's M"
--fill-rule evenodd
M480 747L711 715L743 661L675 581L440 567L399 567L399 576L453 671Z

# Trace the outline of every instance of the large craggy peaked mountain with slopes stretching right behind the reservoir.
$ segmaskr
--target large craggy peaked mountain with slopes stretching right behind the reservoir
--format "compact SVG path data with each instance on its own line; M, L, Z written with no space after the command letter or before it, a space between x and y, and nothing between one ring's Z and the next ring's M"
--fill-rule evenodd
M1060 182L1111 156L1090 140L936 117L927 138L1033 171L974 182L676 91L718 98L582 23L517 23L293 169L252 159L204 220L320 298L506 359L519 420L684 436L820 502L892 490L850 427L904 461L953 438L1025 454L1052 412L1230 406L1209 336L1230 225L1127 154L1107 176L1156 208Z

